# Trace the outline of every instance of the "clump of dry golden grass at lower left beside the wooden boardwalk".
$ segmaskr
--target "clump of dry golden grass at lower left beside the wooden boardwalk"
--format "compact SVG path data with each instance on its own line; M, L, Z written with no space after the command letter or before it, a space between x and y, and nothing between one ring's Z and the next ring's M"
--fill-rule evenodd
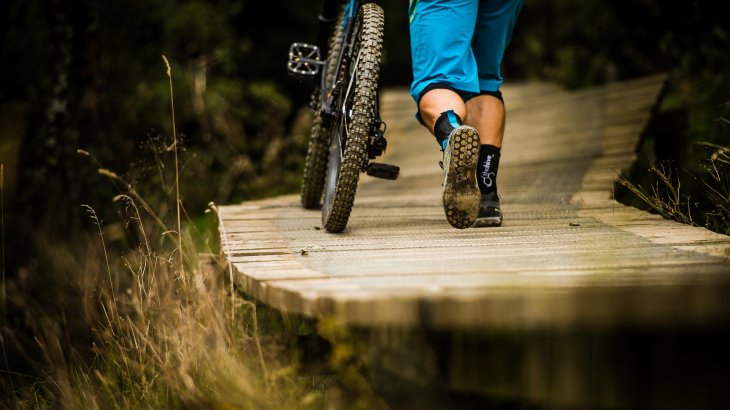
M256 306L230 297L224 272L201 261L195 249L169 246L169 231L159 229L132 195L117 200L132 215L127 229L139 232L138 246L110 255L104 225L86 207L98 234L56 248L47 261L75 272L68 280L78 285L83 307L72 312L78 315L73 320L91 328L91 360L70 348L66 323L52 312L35 315L36 350L47 374L15 392L14 404L278 409L314 403L311 396L299 399L306 392L281 346L263 351ZM184 231L183 243L192 243L187 236ZM75 255L79 249L82 260ZM180 266L179 255L196 268ZM48 309L41 301L20 304L33 312Z

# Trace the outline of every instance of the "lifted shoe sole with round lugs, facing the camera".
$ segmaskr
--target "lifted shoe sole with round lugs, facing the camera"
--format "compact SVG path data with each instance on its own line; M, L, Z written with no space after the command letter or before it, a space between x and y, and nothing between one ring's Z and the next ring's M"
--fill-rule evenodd
M444 164L444 212L449 224L466 229L479 214L481 194L477 185L479 134L472 127L459 127L449 138L448 163Z

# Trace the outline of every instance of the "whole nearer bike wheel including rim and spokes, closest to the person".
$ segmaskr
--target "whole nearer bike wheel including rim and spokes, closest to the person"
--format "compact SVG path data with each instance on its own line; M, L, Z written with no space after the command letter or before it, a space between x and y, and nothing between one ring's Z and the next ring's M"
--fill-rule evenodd
M355 192L367 160L377 98L383 47L383 9L366 3L357 14L343 76L337 121L330 128L329 158L322 207L327 232L342 232L355 202Z

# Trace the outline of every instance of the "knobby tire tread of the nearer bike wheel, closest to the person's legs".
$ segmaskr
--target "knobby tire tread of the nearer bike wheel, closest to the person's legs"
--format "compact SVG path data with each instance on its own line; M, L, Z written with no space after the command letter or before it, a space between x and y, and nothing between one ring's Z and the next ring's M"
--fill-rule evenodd
M336 188L331 194L331 201L328 201L328 193L325 193L322 225L327 232L342 232L350 218L360 172L367 159L367 141L375 113L383 47L383 9L377 4L366 3L360 9L358 18L361 19L359 29L353 32L353 37L359 48L357 55L351 56L352 64L356 62L357 64L350 72L350 75L355 77L355 91L352 97L352 118L347 127L349 135L344 140L345 148L338 172L327 173L327 178L336 176L337 179ZM349 82L349 78L347 80L346 83ZM333 129L336 130L337 127L333 127ZM345 131L343 130L343 132ZM335 144L337 141L333 140L339 137L339 135L333 135L330 143ZM331 148L330 154L335 153L339 154ZM330 167L332 166L332 161L330 161ZM326 184L329 185L333 182L327 181Z

